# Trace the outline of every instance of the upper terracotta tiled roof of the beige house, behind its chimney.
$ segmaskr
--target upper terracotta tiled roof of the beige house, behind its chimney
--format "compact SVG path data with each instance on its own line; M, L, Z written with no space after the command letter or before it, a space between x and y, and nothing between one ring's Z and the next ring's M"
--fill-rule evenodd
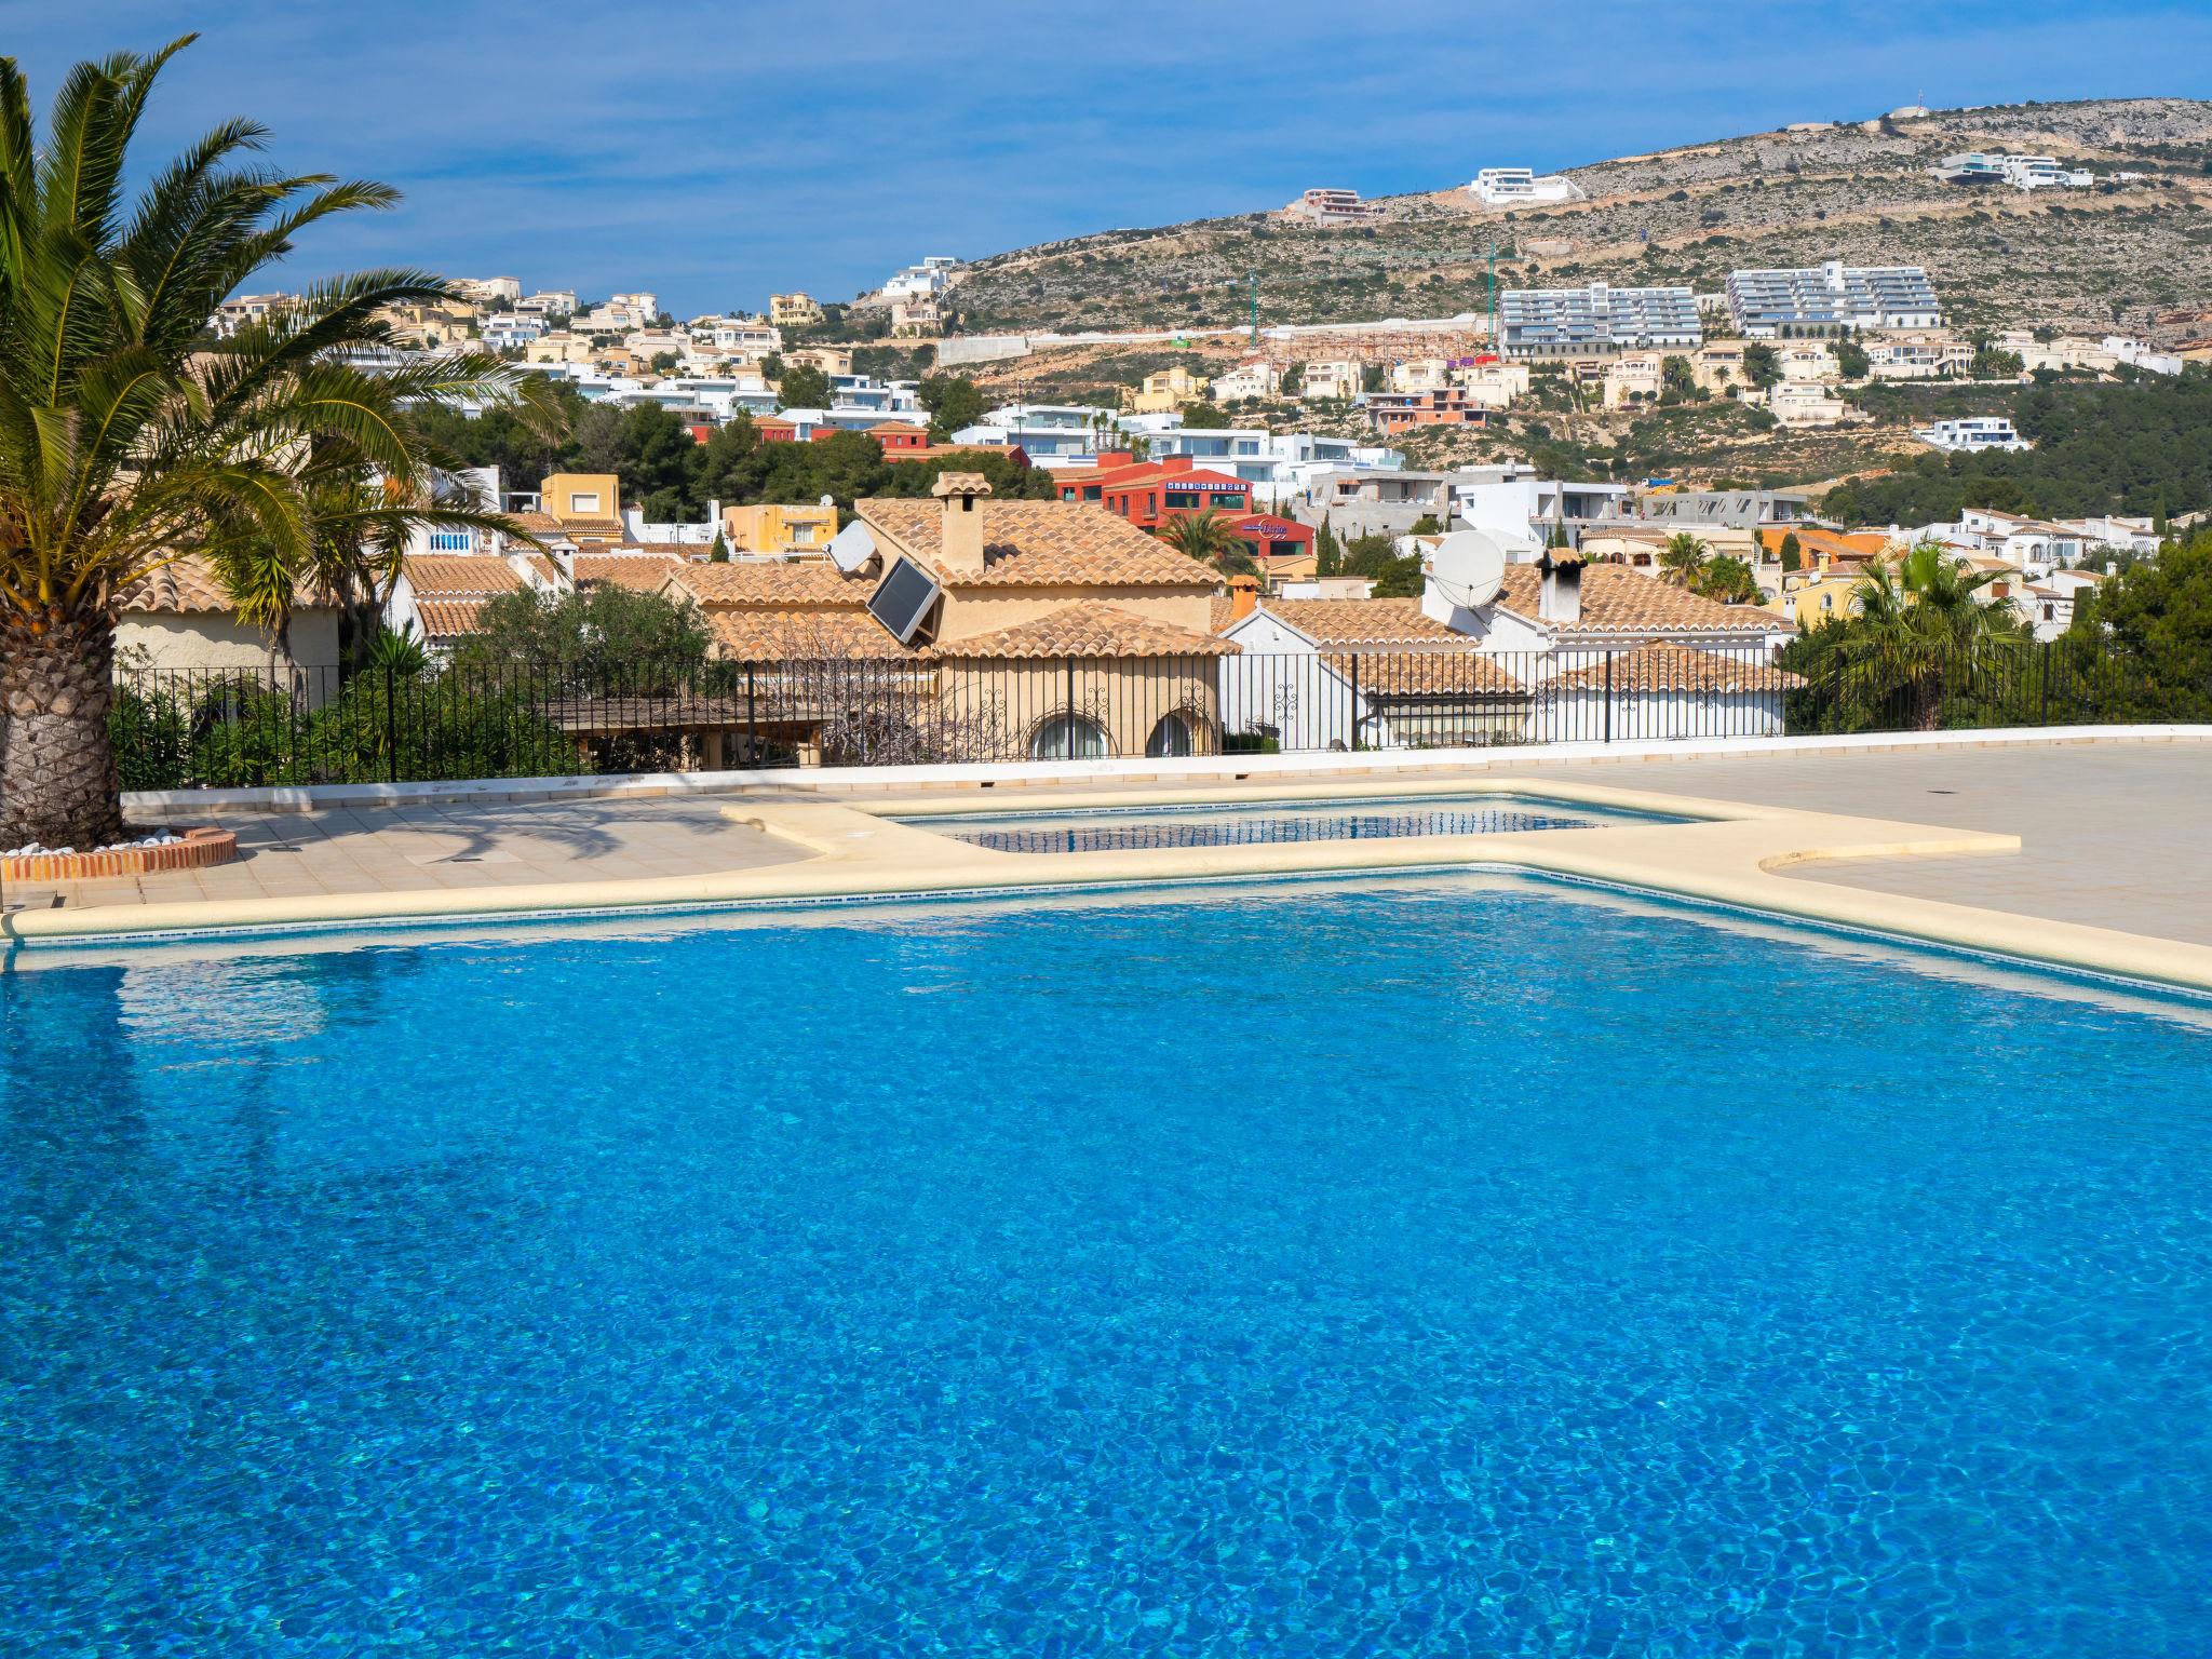
M1212 588L1214 573L1157 535L1084 502L993 502L982 513L984 571L953 573L938 564L945 507L933 500L854 502L854 511L914 557L933 564L947 584Z

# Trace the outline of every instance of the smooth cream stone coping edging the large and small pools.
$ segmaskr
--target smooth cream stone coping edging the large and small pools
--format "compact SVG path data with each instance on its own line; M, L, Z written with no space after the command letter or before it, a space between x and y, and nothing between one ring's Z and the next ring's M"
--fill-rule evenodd
M1374 799L1385 787L1394 799L1520 794L1655 812L1683 818L1683 823L1617 823L1400 841L1022 854L978 847L916 823L894 821L1102 805L1327 803ZM1186 783L1141 792L1128 785L1110 790L1024 787L1011 799L975 792L960 801L927 790L907 796L887 792L865 801L754 801L737 796L721 812L732 823L745 823L812 856L752 869L630 880L20 911L0 918L0 938L7 942L0 951L0 967L13 967L18 951L35 949L44 956L46 949L91 942L177 942L179 938L208 938L212 942L226 933L265 936L292 929L327 933L345 927L372 931L422 922L526 920L577 911L650 914L723 909L745 902L918 900L953 894L1495 867L1575 876L1659 896L1705 900L1765 916L2121 980L2212 989L2212 947L1778 874L1812 860L2015 854L2020 852L2015 834L1679 796L1566 776L1436 774L1433 770L1427 776L1409 776L1398 770L1387 779L1387 785L1376 776L1274 774L1243 783Z

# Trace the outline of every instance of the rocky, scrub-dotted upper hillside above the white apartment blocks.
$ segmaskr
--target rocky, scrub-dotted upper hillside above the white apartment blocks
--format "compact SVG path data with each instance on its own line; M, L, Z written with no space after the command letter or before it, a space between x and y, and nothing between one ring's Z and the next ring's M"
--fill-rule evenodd
M1969 192L1927 175L1955 150L2055 155L2101 184ZM1736 265L1920 263L1962 327L2212 334L2212 102L1938 111L1756 133L1568 177L1586 201L1495 212L1447 188L1389 197L1380 223L1349 230L1274 210L1022 248L962 274L958 330L1234 325L1252 270L1265 323L1451 316L1484 307L1495 239L1502 285L1714 290Z

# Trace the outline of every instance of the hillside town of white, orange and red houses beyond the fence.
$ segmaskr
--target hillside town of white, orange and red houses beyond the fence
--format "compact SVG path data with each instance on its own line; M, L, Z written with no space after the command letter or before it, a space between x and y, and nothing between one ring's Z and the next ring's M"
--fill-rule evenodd
M2075 188L2031 168L2033 157L2002 161L2011 168L2000 168L2002 177L2017 188ZM1469 190L1489 204L1568 199L1559 186L1526 168L1484 168ZM1310 190L1298 206L1325 223L1363 212L1347 190ZM575 290L529 290L515 276L456 279L438 303L387 312L385 343L354 361L374 374L425 354L489 352L557 387L573 407L664 411L697 447L717 434L741 434L748 447L860 445L887 469L911 473L916 493L945 502L945 533L973 522L960 513L978 502L987 502L982 522L1018 522L1009 551L1035 557L1004 568L1051 564L1062 608L1022 617L1013 630L984 626L1000 615L958 599L978 571L962 575L931 551L942 586L927 622L902 635L872 622L872 591L914 549L911 529L905 540L887 529L894 507L911 509L889 500L703 500L692 515L653 518L637 480L619 469L520 478L478 467L465 476L467 489L487 511L513 513L520 533L418 531L383 595L383 624L451 655L500 595L560 604L615 584L697 611L714 650L750 666L821 655L1029 659L1077 641L1086 653L1126 657L1146 646L1192 659L1394 644L1528 657L1520 679L1500 672L1489 688L1515 695L1586 672L1577 637L1604 639L1610 650L1719 650L1714 664L1725 666L1714 672L1730 686L1743 679L1743 646L1752 641L1754 677L1743 686L1763 688L1767 710L1754 723L1778 730L1787 677L1763 664L1798 630L1854 615L1867 577L1913 549L1973 573L1975 602L2022 637L2055 641L2073 626L2079 597L2152 557L2168 526L2146 513L2068 518L1993 507L1843 524L1823 518L1805 489L1593 480L1546 473L1526 453L1420 467L1409 465L1409 440L1482 431L1515 409L1559 400L1597 411L1732 405L1776 431L1805 431L1863 420L1847 400L1854 387L2172 378L2212 358L2212 341L2159 352L2137 338L2053 330L1966 338L1947 323L1927 270L1825 261L1734 270L1717 292L1604 281L1502 288L1489 316L1453 319L1458 330L1442 338L1464 349L1449 356L1418 354L1420 332L1378 330L1332 334L1338 356L1298 358L1301 332L1263 332L1254 312L1248 356L1217 363L1190 354L1099 403L987 407L982 387L958 369L989 361L995 347L945 332L960 276L960 261L933 254L852 305L785 292L761 312L686 321L650 290L580 299ZM296 299L288 294L234 296L210 332L232 338L290 305ZM865 321L832 330L832 316ZM845 338L827 338L834 332ZM2031 447L2002 416L1936 418L1913 438L1938 456ZM995 467L1002 484L1020 478L1029 500L987 500L993 489L982 467ZM1179 551L1141 551L1161 542ZM1469 542L1502 566L1480 606L1462 604L1449 575ZM858 544L874 551L841 555ZM1172 566L1181 553L1197 560L1181 586L1192 599L1214 593L1217 604L1168 622L1144 582L1172 575L1159 568L1161 557ZM1144 575L1135 599L1128 568ZM1515 573L1535 584L1520 599ZM1004 577L993 568L991 580ZM1593 606L1606 617L1601 635L1577 633L1584 591L1604 595ZM124 604L126 646L150 668L215 670L259 650L221 615L210 582L170 571ZM962 626L969 613L973 626ZM288 653L303 670L334 666L336 617L296 617ZM1254 701L1228 668L1212 672L1221 679L1217 703ZM1365 701L1352 697L1360 708L1369 701L1380 710L1374 684ZM1407 723L1400 708L1396 726L1376 712L1371 730L1329 741L1436 743L1442 730L1436 719ZM1486 734L1500 730L1495 719L1484 726ZM1225 737L1186 732L1175 741L1188 748ZM814 739L801 748L816 752ZM1150 732L1099 741L1102 752L1141 748Z

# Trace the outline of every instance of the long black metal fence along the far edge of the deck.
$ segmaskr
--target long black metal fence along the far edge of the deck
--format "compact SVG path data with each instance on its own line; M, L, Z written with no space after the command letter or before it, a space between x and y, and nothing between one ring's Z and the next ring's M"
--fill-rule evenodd
M2212 719L2212 666L2062 639L1818 661L1644 644L133 670L111 728L126 790L177 790L2179 719Z

